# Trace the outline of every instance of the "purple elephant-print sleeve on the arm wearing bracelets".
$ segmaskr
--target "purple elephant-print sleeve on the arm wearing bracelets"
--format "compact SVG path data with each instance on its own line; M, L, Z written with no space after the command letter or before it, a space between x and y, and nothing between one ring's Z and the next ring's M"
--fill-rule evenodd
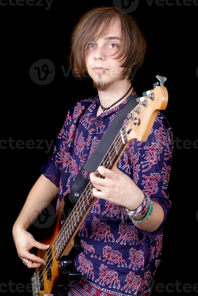
M150 135L146 142L134 140L133 151L127 146L127 153L131 160L133 181L152 201L163 208L164 218L157 230L147 232L149 236L162 234L172 202L169 199L168 184L173 154L172 129L163 116L158 112Z

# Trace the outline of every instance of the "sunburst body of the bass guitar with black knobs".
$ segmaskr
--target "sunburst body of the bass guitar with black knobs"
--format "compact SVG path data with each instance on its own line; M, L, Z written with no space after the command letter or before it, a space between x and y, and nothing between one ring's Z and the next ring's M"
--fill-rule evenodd
M33 291L33 295L56 295L56 290L59 285L69 287L71 285L74 285L81 278L81 272L77 272L74 268L75 253L81 248L80 241L78 240L78 234L70 240L63 253L61 254L61 258L58 260L54 259L55 249L51 247L72 209L73 204L68 200L68 195L65 195L58 208L56 225L52 236L49 239L41 241L46 245L50 245L50 247L48 248L48 250L38 249L37 252L37 256L39 256L40 258L44 258L47 262L47 265L50 266L50 269L47 272L47 265L41 265L39 268L36 269L37 272L39 270L39 275L41 275L42 273L43 275L38 281L40 285L38 291L40 290L40 292L34 294ZM51 261L53 261L52 264L50 264L51 262L49 262L50 259L46 259L46 255L48 254L49 256L50 253L52 258ZM32 280L33 278L34 277L32 277Z

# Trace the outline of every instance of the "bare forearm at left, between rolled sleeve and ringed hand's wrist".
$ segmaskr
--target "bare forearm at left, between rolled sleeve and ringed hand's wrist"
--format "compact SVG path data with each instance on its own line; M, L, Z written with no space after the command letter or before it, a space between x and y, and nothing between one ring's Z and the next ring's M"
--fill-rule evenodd
M31 188L25 204L13 225L13 230L15 228L27 230L41 212L47 208L49 203L53 201L58 194L58 190L58 187L41 174Z

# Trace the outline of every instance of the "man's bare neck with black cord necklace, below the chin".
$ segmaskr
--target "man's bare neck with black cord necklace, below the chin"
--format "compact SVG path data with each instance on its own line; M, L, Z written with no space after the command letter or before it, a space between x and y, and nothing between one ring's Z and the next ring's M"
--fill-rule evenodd
M115 84L112 84L106 91L98 91L99 99L101 102L101 105L103 107L109 107L114 102L118 101L120 98L123 97L124 94L128 91L128 89L131 86L131 81L120 81L116 82ZM116 107L117 105L120 105L122 102L125 101L125 99L133 92L133 86L130 89L130 91L125 95L125 97L120 100L118 103L113 105L111 108Z

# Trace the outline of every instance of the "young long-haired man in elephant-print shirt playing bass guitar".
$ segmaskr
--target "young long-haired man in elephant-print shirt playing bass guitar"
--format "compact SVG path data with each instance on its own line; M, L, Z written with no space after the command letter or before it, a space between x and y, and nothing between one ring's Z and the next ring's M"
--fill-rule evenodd
M142 65L146 49L137 23L117 8L94 8L76 25L71 38L71 67L80 79L89 74L98 93L69 109L53 156L42 167L42 175L15 222L13 237L19 257L28 260L27 267L45 263L29 253L33 246L47 249L27 232L36 218L28 211L33 202L39 204L45 196L47 205L57 193L58 211L61 199L70 192L111 120L136 94L130 72L135 65ZM172 130L160 111L146 142L132 140L114 170L99 166L104 179L98 172L83 171L94 185L92 193L97 200L78 231L83 251L75 257L75 266L82 278L68 295L150 295L171 206L168 182L172 152ZM150 205L132 222L130 211L139 208L146 196L152 200L151 215ZM124 220L119 216L122 206L126 208Z

